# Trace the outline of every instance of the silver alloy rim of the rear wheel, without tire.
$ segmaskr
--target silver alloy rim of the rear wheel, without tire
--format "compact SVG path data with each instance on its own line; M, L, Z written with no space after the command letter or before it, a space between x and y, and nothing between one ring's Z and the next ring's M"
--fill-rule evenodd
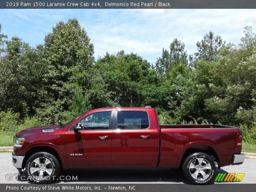
M190 175L196 180L206 180L211 171L211 164L204 158L196 158L189 165Z

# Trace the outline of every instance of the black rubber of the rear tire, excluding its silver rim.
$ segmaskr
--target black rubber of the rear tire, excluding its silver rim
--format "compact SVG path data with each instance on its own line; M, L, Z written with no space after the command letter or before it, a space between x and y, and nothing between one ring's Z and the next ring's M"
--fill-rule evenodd
M202 180L202 181L199 181L199 180L196 180L194 179L191 174L190 174L190 171L189 171L189 166L190 166L190 163L195 160L196 158L204 158L206 159L211 167L212 167L212 170L211 170L211 173L210 173L210 176L206 179L206 180ZM214 175L215 175L215 172L216 172L216 166L214 164L214 161L213 159L207 155L207 154L192 154L190 155L186 161L184 162L184 175L186 176L186 178L192 182L192 183L195 183L195 184L207 184L207 183L212 183L213 182L213 179L214 179Z

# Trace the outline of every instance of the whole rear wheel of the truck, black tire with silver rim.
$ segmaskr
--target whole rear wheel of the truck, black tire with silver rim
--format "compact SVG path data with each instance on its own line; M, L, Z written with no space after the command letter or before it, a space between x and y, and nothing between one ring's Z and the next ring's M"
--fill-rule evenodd
M192 184L210 184L214 181L216 166L211 156L198 152L186 158L182 172Z

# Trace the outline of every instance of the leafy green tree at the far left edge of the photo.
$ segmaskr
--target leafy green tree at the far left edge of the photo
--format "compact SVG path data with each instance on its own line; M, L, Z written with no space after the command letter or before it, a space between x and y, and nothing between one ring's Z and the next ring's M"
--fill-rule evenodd
M16 36L4 40L4 55L0 58L0 108L22 112L36 103L40 84L40 58L36 51ZM35 102L31 102L34 100Z

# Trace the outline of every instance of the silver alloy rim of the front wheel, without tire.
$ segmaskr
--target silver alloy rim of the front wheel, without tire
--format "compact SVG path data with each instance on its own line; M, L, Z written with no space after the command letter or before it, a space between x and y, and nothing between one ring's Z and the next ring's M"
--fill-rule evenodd
M36 180L44 180L52 174L52 162L48 158L36 158L30 165L30 173Z

